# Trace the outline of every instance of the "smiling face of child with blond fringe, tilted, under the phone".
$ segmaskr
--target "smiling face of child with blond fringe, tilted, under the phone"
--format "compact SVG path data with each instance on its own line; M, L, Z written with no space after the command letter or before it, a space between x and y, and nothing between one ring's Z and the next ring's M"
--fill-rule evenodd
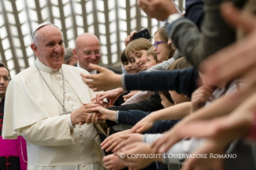
M133 67L137 71L145 71L145 63L147 63L147 51L134 51L130 52L128 55L129 60L131 61Z

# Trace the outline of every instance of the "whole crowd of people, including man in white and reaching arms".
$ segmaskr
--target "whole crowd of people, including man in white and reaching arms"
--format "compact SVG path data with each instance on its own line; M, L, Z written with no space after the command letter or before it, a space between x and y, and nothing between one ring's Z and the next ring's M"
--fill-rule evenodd
M256 1L138 6L165 26L125 38L123 74L95 34L65 49L52 23L35 64L11 80L0 64L1 169L256 169Z

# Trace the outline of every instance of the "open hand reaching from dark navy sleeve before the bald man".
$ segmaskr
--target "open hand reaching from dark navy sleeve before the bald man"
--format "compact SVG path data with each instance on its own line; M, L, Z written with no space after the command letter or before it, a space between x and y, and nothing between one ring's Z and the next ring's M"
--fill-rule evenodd
M100 74L97 75L85 75L81 73L83 82L92 88L93 91L108 91L109 89L122 87L121 75L115 74L113 71L108 70L108 68L94 64L90 64L89 68L100 71Z

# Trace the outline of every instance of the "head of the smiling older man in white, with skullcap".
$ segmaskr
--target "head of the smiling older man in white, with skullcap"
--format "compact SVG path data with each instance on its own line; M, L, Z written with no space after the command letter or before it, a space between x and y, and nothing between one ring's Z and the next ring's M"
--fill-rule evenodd
M34 35L35 42L30 47L39 60L58 70L64 60L63 35L56 26L47 25L39 28Z

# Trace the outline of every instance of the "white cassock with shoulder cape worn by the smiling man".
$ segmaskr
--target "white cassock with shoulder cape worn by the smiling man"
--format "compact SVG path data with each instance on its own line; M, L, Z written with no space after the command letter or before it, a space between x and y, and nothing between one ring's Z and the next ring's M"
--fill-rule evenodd
M36 59L43 78L63 103L62 72L54 71ZM63 65L65 108L75 111L83 103L91 103L95 96L81 76L87 71ZM33 64L14 77L6 91L6 105L2 136L26 139L28 169L76 170L105 169L98 132L105 135L104 124L75 125L71 130L68 115L61 115L63 107L55 99L39 71Z

